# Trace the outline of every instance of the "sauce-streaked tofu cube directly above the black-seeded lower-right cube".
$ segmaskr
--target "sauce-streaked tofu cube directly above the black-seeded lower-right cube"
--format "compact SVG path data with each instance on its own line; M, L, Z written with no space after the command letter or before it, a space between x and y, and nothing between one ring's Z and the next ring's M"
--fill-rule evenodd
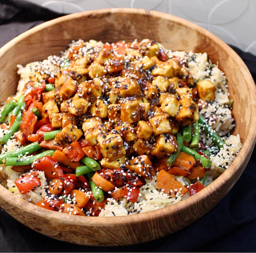
M154 116L149 120L155 135L171 133L172 129L169 122L169 117L170 116L168 114L164 114Z

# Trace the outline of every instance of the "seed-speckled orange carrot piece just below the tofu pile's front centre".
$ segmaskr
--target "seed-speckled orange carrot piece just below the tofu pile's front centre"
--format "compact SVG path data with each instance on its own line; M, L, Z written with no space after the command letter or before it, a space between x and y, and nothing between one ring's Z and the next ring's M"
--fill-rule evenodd
M155 169L147 155L140 155L131 159L126 167L145 178L152 178L155 175Z

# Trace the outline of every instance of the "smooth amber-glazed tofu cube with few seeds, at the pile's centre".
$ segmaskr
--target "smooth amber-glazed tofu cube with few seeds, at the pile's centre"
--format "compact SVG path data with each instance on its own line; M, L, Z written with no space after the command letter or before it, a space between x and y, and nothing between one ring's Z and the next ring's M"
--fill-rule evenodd
M134 123L140 120L140 103L137 100L126 101L121 105L122 121Z

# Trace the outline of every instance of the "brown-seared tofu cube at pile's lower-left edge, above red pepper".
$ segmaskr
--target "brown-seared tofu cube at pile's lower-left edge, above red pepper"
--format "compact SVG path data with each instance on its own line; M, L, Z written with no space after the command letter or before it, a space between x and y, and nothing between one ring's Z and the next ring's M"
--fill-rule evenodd
M69 124L56 134L55 141L60 145L68 146L70 143L77 141L82 135L83 132L80 129Z

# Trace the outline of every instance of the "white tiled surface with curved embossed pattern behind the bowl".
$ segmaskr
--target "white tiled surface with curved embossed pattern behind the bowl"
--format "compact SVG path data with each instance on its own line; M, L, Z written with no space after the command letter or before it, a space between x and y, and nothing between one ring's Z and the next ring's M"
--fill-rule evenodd
M161 11L256 55L256 0L28 0L61 13L126 7Z

